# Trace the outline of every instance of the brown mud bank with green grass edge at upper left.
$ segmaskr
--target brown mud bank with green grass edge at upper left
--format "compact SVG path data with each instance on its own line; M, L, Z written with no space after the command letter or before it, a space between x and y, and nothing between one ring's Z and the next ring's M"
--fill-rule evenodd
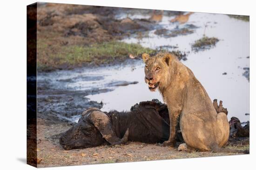
M119 42L155 29L150 19L117 19L125 8L45 3L38 7L38 71L121 63L156 51ZM148 13L150 10L148 10Z

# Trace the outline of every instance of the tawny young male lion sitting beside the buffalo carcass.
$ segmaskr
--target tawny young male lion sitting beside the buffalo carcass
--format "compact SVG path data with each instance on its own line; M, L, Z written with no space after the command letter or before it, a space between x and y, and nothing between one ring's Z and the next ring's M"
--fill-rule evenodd
M216 110L202 84L193 72L174 55L143 54L145 82L150 91L157 88L168 106L170 136L164 146L175 146L176 127L180 123L187 146L200 151L218 151L229 138L225 113Z

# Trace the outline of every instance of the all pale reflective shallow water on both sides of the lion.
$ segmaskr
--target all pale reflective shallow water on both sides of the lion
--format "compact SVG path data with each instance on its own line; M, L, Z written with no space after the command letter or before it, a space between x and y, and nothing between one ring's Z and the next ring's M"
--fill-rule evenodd
M148 18L148 16L135 15L130 18ZM119 18L122 18L119 16ZM178 23L170 23L174 17L164 16L159 24L163 28L172 30ZM178 46L178 50L189 51L188 60L182 61L195 74L202 83L210 98L223 101L223 106L228 108L228 118L238 117L241 121L249 120L249 82L242 76L243 68L249 67L249 22L229 18L224 14L193 13L186 24L193 24L199 28L194 33L164 38L149 32L149 38L127 38L122 41L127 43L140 43L142 46L157 48L162 45ZM179 28L186 24L179 25ZM206 28L205 28L205 25ZM202 38L203 34L208 37L220 39L216 46L204 51L194 52L191 44ZM172 49L169 49L172 50ZM176 50L176 49L174 49ZM131 71L132 68L136 68ZM226 72L227 75L222 75ZM137 62L134 65L119 67L112 72L108 79L138 81L138 84L127 87L116 88L108 93L88 95L94 101L103 101L102 110L118 111L129 110L130 107L139 101L147 101L153 98L162 97L158 92L149 92L144 82L143 63Z

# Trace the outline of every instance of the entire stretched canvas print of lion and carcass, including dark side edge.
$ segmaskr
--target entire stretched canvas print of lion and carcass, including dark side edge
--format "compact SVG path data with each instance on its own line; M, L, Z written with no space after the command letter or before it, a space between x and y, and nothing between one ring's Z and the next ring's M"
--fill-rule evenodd
M27 6L27 164L249 154L249 16Z

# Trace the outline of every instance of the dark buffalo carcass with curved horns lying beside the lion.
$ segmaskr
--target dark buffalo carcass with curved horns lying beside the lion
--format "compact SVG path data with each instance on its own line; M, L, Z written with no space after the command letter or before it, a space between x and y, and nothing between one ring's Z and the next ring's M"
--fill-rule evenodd
M66 150L116 145L129 141L162 143L169 138L168 108L158 100L142 101L130 112L101 112L91 107L65 132L60 144Z

